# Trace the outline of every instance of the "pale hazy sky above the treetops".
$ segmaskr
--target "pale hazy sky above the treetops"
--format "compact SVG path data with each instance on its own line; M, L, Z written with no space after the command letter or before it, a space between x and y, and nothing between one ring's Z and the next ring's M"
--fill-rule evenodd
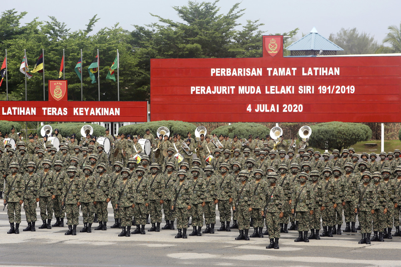
M221 6L221 12L225 13L235 2L237 1L220 0L217 5ZM187 3L187 0L22 0L3 1L2 10L15 8L17 11L27 11L23 23L35 17L44 21L49 20L47 16L56 16L71 30L86 28L85 24L97 14L100 18L94 28L94 32L97 32L100 28L111 27L116 22L126 30L133 30L132 24L143 26L157 22L157 18L149 13L179 20L172 6ZM246 10L239 23L246 24L246 20L259 19L265 24L260 29L267 31L266 34L288 32L298 27L298 38L302 37L302 32L307 34L313 27L326 38L342 27L356 27L359 32L367 32L381 43L388 32L387 28L391 25L399 26L401 22L399 0L243 0L240 8Z

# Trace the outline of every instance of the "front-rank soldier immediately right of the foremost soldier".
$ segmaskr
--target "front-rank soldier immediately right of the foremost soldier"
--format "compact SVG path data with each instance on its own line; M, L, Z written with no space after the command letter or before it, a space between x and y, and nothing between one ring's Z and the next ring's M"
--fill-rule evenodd
M309 178L309 175L306 172L300 172L298 175L298 179L300 184L294 187L291 197L292 204L292 213L296 213L295 218L298 221L298 238L295 239L295 242L309 242L308 239L308 231L310 229L309 226L309 218L310 215L313 215L313 207L314 207L314 192L313 188L310 184L306 183L306 180ZM302 237L302 233L304 236Z

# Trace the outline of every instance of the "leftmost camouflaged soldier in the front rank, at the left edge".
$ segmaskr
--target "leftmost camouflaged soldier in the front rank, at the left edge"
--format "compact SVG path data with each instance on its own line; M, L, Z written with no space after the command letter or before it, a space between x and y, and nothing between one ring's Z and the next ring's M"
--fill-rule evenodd
M18 162L11 162L9 165L10 174L5 179L6 195L4 204L7 203L8 221L10 223L10 231L7 234L20 233L21 205L24 202L25 181L22 175L18 173L18 168Z

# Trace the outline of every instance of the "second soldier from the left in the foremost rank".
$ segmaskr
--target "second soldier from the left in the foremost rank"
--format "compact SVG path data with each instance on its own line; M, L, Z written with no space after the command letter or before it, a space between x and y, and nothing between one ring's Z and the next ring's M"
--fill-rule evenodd
M77 225L79 223L79 192L81 192L81 183L76 176L77 168L70 166L67 169L68 178L63 186L63 206L67 215L68 231L64 235L77 235Z

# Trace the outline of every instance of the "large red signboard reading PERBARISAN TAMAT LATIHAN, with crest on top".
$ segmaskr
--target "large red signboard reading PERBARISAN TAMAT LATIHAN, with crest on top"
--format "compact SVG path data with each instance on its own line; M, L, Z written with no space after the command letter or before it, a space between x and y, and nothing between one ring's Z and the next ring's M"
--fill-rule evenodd
M183 121L400 121L401 56L267 54L152 59L152 121L171 119L171 107Z

